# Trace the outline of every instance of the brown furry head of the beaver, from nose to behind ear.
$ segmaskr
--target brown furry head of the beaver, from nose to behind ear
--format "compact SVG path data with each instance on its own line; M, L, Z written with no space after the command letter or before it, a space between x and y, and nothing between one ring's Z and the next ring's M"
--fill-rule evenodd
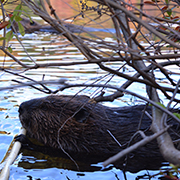
M105 106L87 96L32 99L20 105L19 117L29 137L67 152L107 153L116 144L107 132Z

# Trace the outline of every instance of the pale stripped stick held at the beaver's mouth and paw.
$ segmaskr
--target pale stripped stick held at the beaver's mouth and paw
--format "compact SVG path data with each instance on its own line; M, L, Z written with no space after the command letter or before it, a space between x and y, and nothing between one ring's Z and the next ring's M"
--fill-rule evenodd
M22 128L20 131L20 134L24 134L26 135L26 129ZM9 179L9 174L10 174L10 165L14 162L14 160L16 159L19 150L21 148L21 143L20 142L15 142L13 145L13 148L9 154L9 156L7 157L6 161L5 161L5 165L0 173L0 180L7 180Z

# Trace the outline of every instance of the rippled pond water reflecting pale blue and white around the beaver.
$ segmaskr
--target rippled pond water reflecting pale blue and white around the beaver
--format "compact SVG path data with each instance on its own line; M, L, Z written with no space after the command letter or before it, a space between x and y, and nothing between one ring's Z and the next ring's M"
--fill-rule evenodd
M102 33L102 32L101 32ZM106 39L106 34L104 34ZM49 33L34 33L27 34L21 37L22 43L25 49L28 51L31 57L38 62L72 62L83 61L84 57L81 53L71 46L67 40L56 34ZM113 39L108 39L113 41ZM17 58L22 58L24 62L29 62L27 54L23 48L19 45L16 39L13 39L12 44L13 54ZM31 62L29 62L31 63ZM95 64L89 65L74 65L74 66L61 66L61 67L47 67L38 70L23 71L12 61L9 57L5 57L0 54L1 67L14 67L16 72L26 76L28 78L35 79L36 81L51 80L57 81L61 78L66 78L70 83L92 83L96 80L107 81L111 76L106 76L106 73L98 68ZM119 67L121 63L111 63L113 67ZM134 74L129 68L125 70L128 74ZM104 78L101 78L104 77ZM160 78L160 77L159 77ZM163 79L164 77L162 77ZM11 75L9 73L0 72L0 88L17 85L12 80L18 80L26 82L23 77ZM119 86L125 81L121 78L114 77L111 80L112 85ZM49 85L48 88L56 90L57 85ZM58 94L75 94L83 88L69 88ZM134 84L129 87L129 90L138 92L139 94L146 96L145 87L141 84ZM86 94L92 96L96 94L98 89L86 88L83 89L80 94ZM111 93L112 90L107 90L107 93ZM13 140L14 136L19 132L21 124L18 118L18 107L26 100L32 98L39 98L46 96L43 92L35 90L32 87L21 87L16 89L0 91L0 160L3 159L6 151ZM119 98L113 103L104 103L107 106L125 106L141 103L141 100L134 98L130 95L125 95L123 98ZM116 168L110 168L106 171L95 172L78 172L76 170L68 170L66 165L69 164L69 160L51 159L46 155L36 154L35 152L23 151L19 154L18 158L11 166L10 180L24 180L24 179L125 179L121 170ZM72 164L72 163L71 163ZM72 168L74 169L74 167ZM158 171L157 171L158 172ZM144 174L155 174L156 171L141 171L138 174L126 173L127 179L135 179L137 176ZM154 178L155 179L155 178Z

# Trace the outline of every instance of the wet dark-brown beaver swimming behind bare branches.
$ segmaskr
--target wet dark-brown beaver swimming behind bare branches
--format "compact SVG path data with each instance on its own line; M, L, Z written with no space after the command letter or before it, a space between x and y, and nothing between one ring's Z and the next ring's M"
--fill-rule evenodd
M143 116L139 126L144 108L145 105L111 108L84 95L50 95L23 102L19 118L27 136L47 147L71 156L89 154L105 160L140 140L139 136L132 138L138 127L151 134L148 116ZM148 111L151 111L150 106ZM154 140L130 153L128 158L122 158L115 166L124 168L126 162L126 170L137 172L157 169L163 161Z

